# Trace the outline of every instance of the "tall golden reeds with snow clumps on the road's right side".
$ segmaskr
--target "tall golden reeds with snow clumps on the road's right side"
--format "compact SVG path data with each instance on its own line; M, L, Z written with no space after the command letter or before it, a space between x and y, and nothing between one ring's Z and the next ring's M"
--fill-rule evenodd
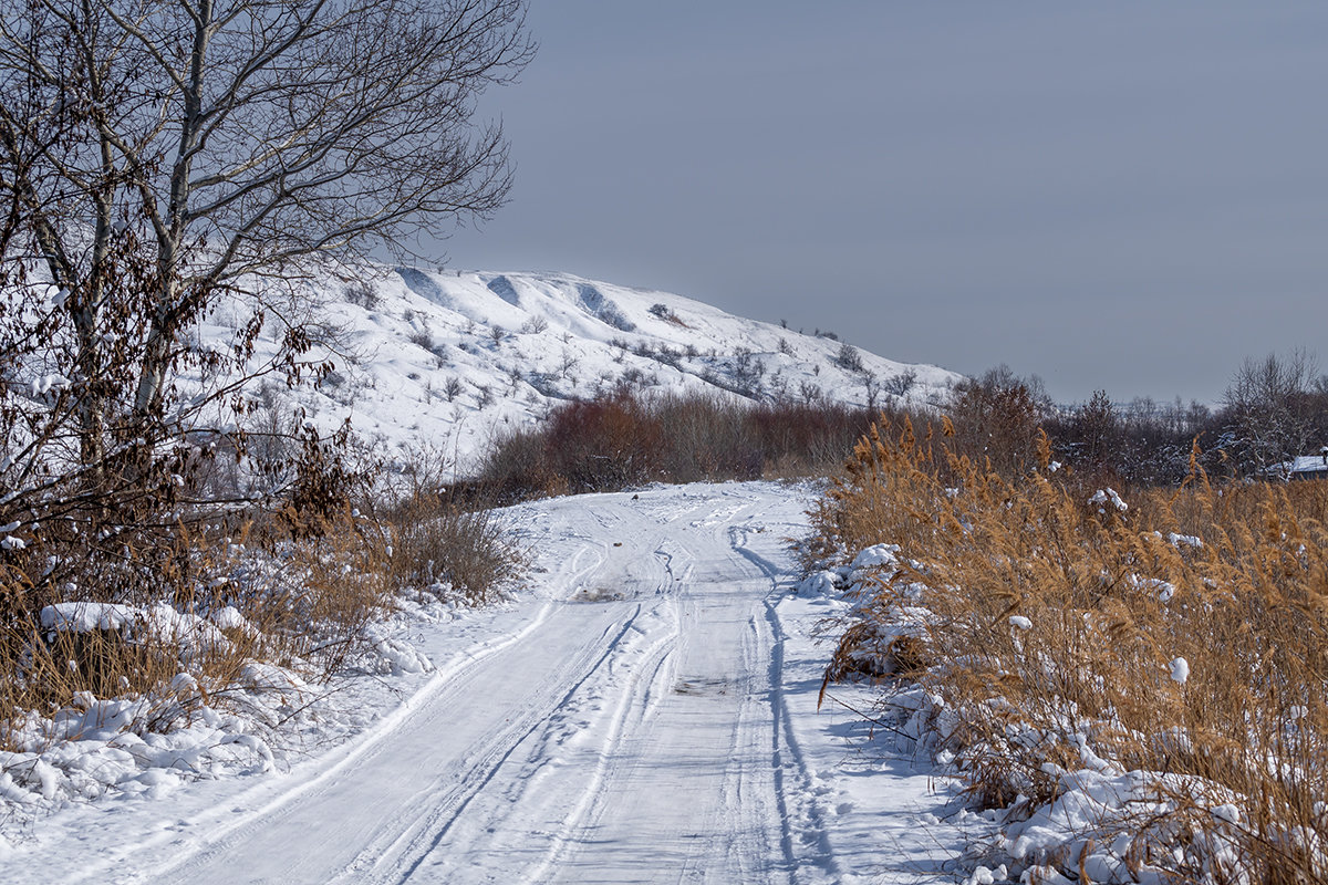
M809 568L851 581L826 687L884 679L1016 878L1328 881L1328 483L1195 451L1117 491L1045 437L1003 476L952 434L872 426L811 513Z

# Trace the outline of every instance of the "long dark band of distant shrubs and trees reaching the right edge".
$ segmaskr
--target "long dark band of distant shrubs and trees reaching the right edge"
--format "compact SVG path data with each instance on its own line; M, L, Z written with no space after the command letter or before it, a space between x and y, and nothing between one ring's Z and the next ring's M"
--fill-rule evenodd
M950 451L1007 476L1033 468L1027 462L1042 431L1058 462L1122 487L1179 483L1195 446L1214 478L1272 476L1328 442L1328 377L1315 375L1300 353L1250 360L1216 409L1179 399L1120 405L1101 390L1086 403L1056 406L1040 379L1007 366L957 383L939 411L619 390L559 406L497 441L479 475L453 491L493 502L649 482L825 476L878 418L907 419L919 437L942 433L944 418Z

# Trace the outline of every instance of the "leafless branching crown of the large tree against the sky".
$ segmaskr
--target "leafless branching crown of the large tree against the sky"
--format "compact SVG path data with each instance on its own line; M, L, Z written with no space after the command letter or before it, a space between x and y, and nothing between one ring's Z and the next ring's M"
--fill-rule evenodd
M81 375L127 313L134 413L246 275L400 248L507 194L501 129L473 115L531 56L523 0L0 1L0 196L70 293ZM126 275L137 296L104 291Z

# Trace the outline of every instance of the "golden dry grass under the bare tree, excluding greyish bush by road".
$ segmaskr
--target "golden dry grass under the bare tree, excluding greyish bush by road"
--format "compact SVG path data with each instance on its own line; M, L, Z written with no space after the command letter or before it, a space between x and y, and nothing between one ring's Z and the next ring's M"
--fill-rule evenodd
M340 667L363 624L390 604L388 581L373 569L381 553L356 532L263 551L251 528L224 535L177 527L169 567L145 569L131 598L98 598L104 565L89 565L70 575L61 594L7 612L0 747L13 743L31 713L50 715L78 697L147 701L134 728L157 730L186 723L202 706L227 706L255 661L307 678ZM88 612L116 604L122 614L105 629L50 629L42 612L54 604ZM243 626L214 621L227 608L243 616Z

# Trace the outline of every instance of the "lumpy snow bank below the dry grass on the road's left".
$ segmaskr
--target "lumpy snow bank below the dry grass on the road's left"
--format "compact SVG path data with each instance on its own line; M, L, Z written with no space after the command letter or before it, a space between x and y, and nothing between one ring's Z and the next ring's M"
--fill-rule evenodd
M402 608L416 621L438 617L437 605ZM360 671L402 675L433 669L429 657L400 636L404 617L365 628ZM89 601L48 605L41 626L50 636L108 632L127 642L150 640L178 647L185 662L203 649L231 651L223 629L256 630L234 606L203 618L166 604ZM297 666L246 661L228 685L182 670L146 695L80 693L53 714L29 711L5 735L11 750L0 751L0 820L25 821L108 795L157 799L190 780L272 771L274 742L291 736L292 719L328 716L332 695L307 682ZM335 730L336 716L315 727L316 734Z

